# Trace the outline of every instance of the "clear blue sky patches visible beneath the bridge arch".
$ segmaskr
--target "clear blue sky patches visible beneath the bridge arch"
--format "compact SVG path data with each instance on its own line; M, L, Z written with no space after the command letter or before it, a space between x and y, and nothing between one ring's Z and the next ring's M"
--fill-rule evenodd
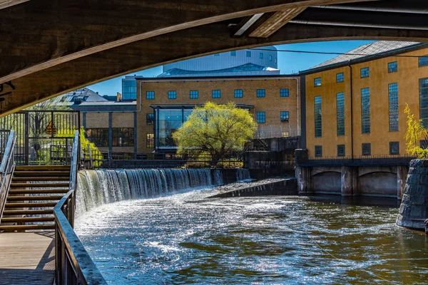
M292 43L280 46L275 46L278 50L292 51L321 51L321 52L337 52L346 53L347 51L362 46L365 43L372 41L319 41L314 43ZM318 63L336 57L331 54L314 54L314 53L290 53L278 51L278 68L281 74L295 73L316 66ZM144 77L154 77L162 73L162 66L156 68L138 71L130 75L137 74ZM93 91L98 91L101 95L116 95L116 92L122 92L123 76L103 81L91 86L88 86Z

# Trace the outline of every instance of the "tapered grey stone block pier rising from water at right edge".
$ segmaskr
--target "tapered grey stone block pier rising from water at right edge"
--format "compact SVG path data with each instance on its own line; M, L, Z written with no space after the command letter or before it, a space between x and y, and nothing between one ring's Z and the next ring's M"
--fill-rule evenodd
M425 230L428 218L428 160L412 160L397 225L409 229Z

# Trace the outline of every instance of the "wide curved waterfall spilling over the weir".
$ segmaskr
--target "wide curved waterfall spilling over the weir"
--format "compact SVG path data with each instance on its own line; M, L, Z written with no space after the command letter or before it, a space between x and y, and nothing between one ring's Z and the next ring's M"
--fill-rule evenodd
M221 185L220 170L136 169L78 172L76 214L124 199L156 197L188 188Z

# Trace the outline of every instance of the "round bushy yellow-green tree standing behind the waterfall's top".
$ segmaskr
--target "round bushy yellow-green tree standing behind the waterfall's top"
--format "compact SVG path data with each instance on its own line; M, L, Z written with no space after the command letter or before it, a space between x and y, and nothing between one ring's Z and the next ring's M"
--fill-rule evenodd
M208 154L213 166L233 151L243 150L253 138L257 124L253 116L234 103L217 105L205 103L196 107L175 133L179 155L200 157Z

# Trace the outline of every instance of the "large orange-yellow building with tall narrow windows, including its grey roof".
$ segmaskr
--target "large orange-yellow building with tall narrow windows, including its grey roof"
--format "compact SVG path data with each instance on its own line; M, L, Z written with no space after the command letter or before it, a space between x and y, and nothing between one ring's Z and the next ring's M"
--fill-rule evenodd
M377 41L303 71L309 157L407 155L406 103L428 126L427 55L426 44Z

